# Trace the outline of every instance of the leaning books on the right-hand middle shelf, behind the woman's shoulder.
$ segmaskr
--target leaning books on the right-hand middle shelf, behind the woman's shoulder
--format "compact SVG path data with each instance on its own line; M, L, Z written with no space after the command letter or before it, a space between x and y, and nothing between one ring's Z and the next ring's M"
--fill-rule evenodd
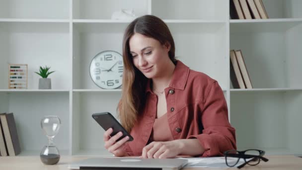
M241 50L230 50L230 81L233 88L253 88Z

